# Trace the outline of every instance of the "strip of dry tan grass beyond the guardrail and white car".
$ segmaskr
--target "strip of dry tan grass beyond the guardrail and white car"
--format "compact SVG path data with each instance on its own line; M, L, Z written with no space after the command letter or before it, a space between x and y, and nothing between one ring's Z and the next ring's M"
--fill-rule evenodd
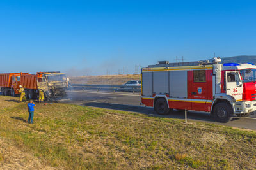
M112 76L83 76L71 77L70 81L74 84L100 84L100 85L122 85L130 80L141 80L140 74L138 75L112 75Z

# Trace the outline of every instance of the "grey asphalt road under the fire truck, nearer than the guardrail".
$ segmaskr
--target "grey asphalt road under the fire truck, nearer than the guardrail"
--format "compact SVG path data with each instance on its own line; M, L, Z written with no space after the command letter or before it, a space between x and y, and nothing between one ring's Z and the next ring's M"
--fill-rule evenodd
M184 113L172 111L170 115L157 115L150 107L140 106L140 93L132 94L131 92L97 92L97 91L83 91L72 90L68 92L70 101L63 101L65 103L79 104L81 106L93 106L99 108L110 108L114 110L133 111L136 113L147 114L154 117L167 117L184 119ZM188 111L188 121L207 122L218 125L225 125L230 127L239 127L243 129L256 130L256 115L250 115L247 118L234 117L228 123L216 122L209 113L200 111Z

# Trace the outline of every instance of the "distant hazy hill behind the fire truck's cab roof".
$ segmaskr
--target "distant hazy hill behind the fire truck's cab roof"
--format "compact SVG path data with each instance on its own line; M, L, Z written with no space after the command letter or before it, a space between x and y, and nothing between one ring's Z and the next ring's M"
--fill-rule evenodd
M238 62L238 63L245 63L245 62L252 62L256 64L256 55L241 55L235 57L221 57L221 62Z

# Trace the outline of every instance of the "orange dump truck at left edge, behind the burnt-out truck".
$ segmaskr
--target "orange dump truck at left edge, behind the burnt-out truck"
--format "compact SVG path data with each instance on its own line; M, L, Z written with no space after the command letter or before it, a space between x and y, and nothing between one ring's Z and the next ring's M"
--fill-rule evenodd
M20 76L29 73L3 73L0 74L0 87L3 95L16 96L19 94Z

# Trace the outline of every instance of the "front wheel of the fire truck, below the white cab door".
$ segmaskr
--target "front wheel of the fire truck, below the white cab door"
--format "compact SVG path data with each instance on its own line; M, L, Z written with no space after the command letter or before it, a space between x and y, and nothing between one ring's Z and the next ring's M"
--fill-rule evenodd
M217 122L227 123L232 119L233 110L229 104L221 102L214 106L213 115Z

